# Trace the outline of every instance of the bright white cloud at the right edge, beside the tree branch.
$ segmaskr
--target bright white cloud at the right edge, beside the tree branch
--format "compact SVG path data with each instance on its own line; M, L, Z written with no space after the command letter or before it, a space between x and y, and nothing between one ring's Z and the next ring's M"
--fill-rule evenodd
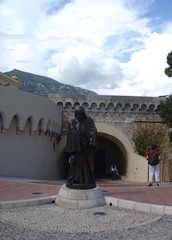
M158 96L171 93L172 80L164 74L171 42L172 35L153 33L146 40L145 48L133 53L130 61L124 64L127 85L131 85L131 90L136 88L137 95Z

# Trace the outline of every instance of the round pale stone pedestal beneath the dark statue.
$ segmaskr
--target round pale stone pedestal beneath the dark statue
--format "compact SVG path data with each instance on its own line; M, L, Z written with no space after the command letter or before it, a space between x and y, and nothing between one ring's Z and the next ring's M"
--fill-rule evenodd
M100 187L93 189L71 189L64 184L57 195L55 203L64 208L83 209L105 205Z

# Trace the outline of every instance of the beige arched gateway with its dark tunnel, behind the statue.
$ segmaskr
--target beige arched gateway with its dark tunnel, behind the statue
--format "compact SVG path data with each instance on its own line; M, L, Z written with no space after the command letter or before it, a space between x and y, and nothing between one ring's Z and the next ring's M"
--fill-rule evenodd
M96 178L110 175L111 164L117 165L121 178L128 181L146 182L148 166L145 158L134 153L128 138L117 128L105 123L96 123L97 150L94 156ZM61 177L67 176L68 156L65 154L66 136L59 142Z

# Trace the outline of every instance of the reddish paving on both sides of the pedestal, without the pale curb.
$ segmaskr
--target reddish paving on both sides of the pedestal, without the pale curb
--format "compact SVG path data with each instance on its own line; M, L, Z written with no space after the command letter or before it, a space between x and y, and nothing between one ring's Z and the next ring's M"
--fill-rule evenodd
M62 181L34 181L22 179L0 179L0 202L34 199L57 195ZM172 206L172 184L160 183L160 186L147 187L146 183L127 183L98 179L105 196L136 202Z

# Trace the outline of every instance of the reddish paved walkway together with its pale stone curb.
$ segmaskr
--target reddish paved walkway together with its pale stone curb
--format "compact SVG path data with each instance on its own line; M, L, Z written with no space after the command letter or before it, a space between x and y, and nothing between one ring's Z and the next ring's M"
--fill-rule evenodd
M0 178L0 208L53 202L64 183L65 180L38 181ZM154 209L155 212L172 214L172 184L169 182L160 183L159 187L109 179L98 179L96 183L101 187L106 203L109 205L143 209L148 212Z

